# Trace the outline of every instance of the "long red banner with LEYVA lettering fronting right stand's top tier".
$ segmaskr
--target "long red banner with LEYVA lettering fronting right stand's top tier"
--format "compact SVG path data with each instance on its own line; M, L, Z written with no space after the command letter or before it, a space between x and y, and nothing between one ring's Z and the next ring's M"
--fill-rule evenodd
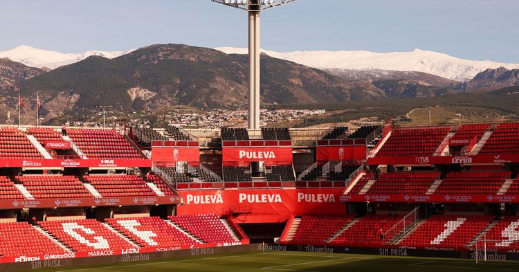
M519 154L481 154L469 156L374 156L369 165L432 165L432 164L501 164L519 163Z

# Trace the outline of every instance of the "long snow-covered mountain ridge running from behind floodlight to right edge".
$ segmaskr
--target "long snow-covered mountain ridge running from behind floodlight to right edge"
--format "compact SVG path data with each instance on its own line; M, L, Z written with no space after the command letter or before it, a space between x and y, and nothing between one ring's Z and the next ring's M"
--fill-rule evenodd
M215 48L224 53L246 54L247 48ZM418 71L450 80L467 81L486 69L518 69L519 64L462 60L444 53L415 49L410 52L375 53L370 51L262 51L271 57L290 60L319 69Z

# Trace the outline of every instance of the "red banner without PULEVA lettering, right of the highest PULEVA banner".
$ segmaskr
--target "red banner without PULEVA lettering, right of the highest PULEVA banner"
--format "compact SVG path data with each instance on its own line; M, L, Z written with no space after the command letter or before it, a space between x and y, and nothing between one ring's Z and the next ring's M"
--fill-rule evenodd
M366 159L365 145L318 146L317 163L323 165L329 161L358 161Z

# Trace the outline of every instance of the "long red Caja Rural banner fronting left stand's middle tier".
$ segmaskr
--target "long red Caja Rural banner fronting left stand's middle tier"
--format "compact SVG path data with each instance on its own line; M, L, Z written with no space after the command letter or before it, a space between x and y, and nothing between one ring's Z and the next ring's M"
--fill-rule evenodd
M0 210L12 210L21 208L68 208L91 206L147 206L157 204L181 203L181 197L99 197L83 199L16 199L0 200Z

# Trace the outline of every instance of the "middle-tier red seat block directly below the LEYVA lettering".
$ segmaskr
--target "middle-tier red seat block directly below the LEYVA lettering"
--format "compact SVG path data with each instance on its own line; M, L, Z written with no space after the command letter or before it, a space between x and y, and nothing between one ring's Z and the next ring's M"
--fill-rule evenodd
M511 172L449 172L437 194L496 194Z

